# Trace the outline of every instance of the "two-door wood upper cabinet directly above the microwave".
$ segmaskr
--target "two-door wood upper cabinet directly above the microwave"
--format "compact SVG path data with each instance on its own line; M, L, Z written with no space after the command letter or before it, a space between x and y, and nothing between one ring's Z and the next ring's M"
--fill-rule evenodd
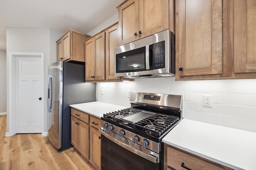
M169 5L173 0L128 0L118 6L119 45L168 29Z

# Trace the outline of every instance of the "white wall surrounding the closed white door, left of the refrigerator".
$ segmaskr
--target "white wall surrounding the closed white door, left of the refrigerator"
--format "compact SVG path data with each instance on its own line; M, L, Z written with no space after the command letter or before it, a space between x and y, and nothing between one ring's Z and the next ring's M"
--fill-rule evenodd
M6 29L6 51L7 55L10 52L19 53L44 53L44 96L46 96L47 79L48 79L48 65L50 61L56 61L56 40L60 38L60 35L64 33L57 32L51 29L39 29L39 28L7 28ZM54 45L55 44L55 45ZM55 48L55 49L54 49ZM54 55L54 56L51 56ZM7 70L9 60L7 57ZM7 82L9 81L9 73L7 71ZM9 88L7 86L9 94ZM43 100L45 100L43 98ZM7 95L8 105L8 95ZM7 106L8 114L8 106ZM44 101L44 132L47 132L47 103ZM7 129L9 132L7 115Z

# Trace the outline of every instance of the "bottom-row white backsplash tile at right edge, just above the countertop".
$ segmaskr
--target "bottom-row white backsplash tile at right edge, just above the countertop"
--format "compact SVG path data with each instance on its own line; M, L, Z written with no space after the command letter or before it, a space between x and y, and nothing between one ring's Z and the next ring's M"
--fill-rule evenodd
M232 116L220 116L220 125L256 132L256 120Z

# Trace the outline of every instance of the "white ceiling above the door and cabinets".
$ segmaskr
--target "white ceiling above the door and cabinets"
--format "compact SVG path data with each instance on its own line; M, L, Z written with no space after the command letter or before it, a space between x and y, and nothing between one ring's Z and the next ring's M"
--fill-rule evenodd
M124 0L0 0L0 49L6 28L72 28L88 33L118 12Z

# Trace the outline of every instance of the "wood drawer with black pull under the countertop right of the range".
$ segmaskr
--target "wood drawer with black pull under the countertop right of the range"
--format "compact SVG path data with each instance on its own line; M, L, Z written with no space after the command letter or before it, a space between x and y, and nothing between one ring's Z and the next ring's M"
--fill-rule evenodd
M164 144L164 150L165 150L164 162L167 163L167 165L165 165L164 167L167 170L174 170L174 169L231 170L231 168L220 165L216 162L212 162L210 160L206 160L204 158L190 154L183 150L174 148L168 144Z

